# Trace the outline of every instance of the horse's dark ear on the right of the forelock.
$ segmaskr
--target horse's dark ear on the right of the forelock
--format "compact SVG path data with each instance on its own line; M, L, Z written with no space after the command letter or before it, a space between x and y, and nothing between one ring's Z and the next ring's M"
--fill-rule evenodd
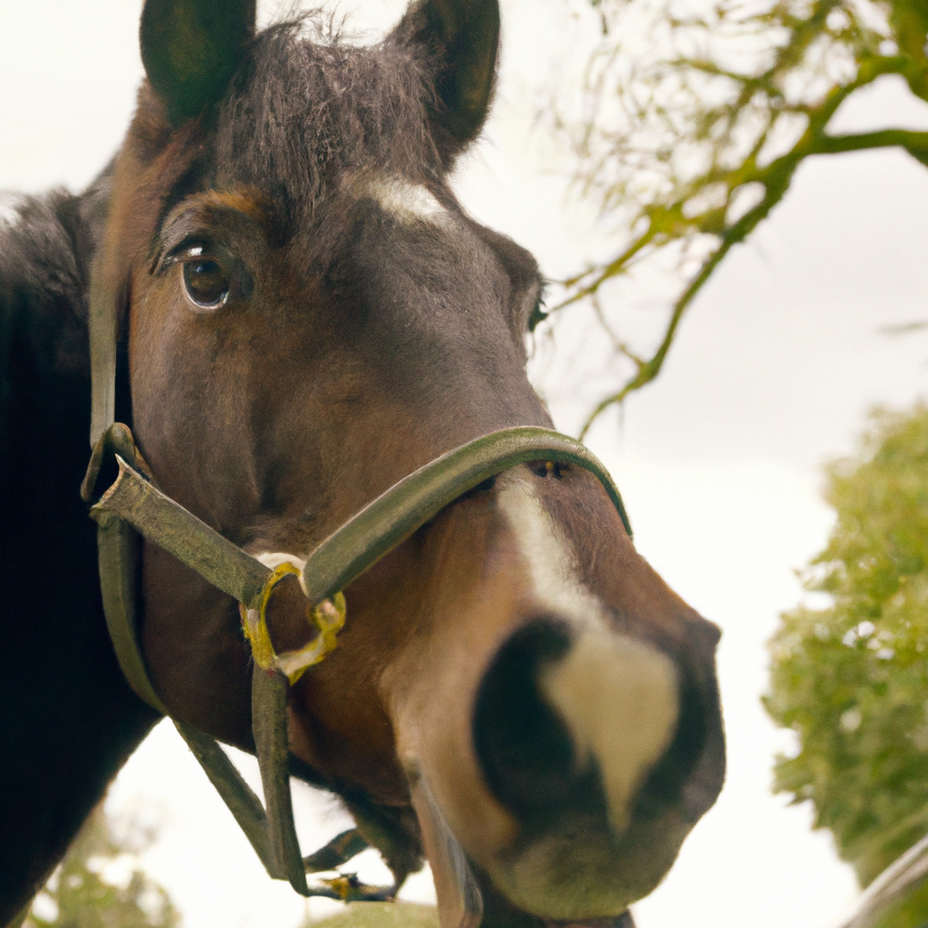
M483 126L496 83L498 0L418 0L393 39L420 45L433 62L432 121L451 136L452 154Z

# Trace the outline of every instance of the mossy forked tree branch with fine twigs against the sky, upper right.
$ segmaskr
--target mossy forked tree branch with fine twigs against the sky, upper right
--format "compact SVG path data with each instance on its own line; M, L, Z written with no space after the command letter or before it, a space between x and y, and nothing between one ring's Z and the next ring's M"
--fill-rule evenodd
M835 32L833 23L829 25L829 18L835 10L842 11L846 18L840 32ZM547 315L585 298L595 300L607 280L626 274L637 264L649 262L666 246L674 243L685 245L700 236L711 236L713 241L712 251L702 260L695 277L687 274L681 280L684 289L668 307L669 318L661 342L650 356L634 354L609 329L605 314L597 307L600 323L609 332L616 351L633 363L634 375L625 380L620 390L599 402L587 417L581 436L605 409L622 403L629 393L658 376L690 304L731 247L746 238L782 200L796 169L807 157L897 147L928 166L928 132L886 129L857 135L826 134L832 116L844 100L883 74L902 75L913 93L928 99L928 65L922 45L916 43L916 47L909 43L909 48L902 42L896 35L898 24L890 22L890 34L899 40L897 51L895 54L883 54L880 49L883 49L882 43L887 37L885 32L863 21L847 0L811 0L798 14L788 4L775 3L760 12L750 11L743 18L736 15L735 7L713 6L712 16L675 19L667 13L664 21L672 30L681 33L687 33L687 30L717 33L721 27L727 26L725 34L729 38L749 33L762 35L780 29L786 32L787 40L782 44L769 45L769 54L755 57L754 67L750 62L730 64L728 58L715 55L712 45L704 46L709 49L708 52L702 51L702 45L697 45L701 50L695 54L690 52L691 57L684 52L683 57L677 54L657 59L631 74L624 73L613 88L618 92L619 105L624 108L627 124L622 123L621 129L612 133L598 129L596 120L602 118L598 111L586 121L583 157L590 170L585 173L584 192L597 190L604 213L629 200L638 202L628 219L628 238L623 251L614 255L612 260L587 266L582 273L561 281L566 290L564 298ZM922 36L922 32L919 35ZM850 52L855 71L851 74L847 71L830 72L827 63L819 60L824 52L819 54L815 51L819 40L827 45L826 51L844 48L844 51ZM620 47L613 44L611 54L604 59L597 58L597 68L594 69L591 63L587 72L588 76L592 74L595 77L591 83L592 96L597 104L612 86L607 75ZM683 47L691 49L693 45L688 43ZM603 61L606 63L603 64ZM816 90L811 98L806 97L801 89L788 94L784 88L789 84L788 79L794 77L802 77L806 83L813 78L824 77L830 85L824 92ZM727 96L723 95L721 102L703 103L700 78L721 78L729 82L731 86ZM644 98L636 103L638 97L635 95L641 87L644 88ZM925 88L924 95L920 94L922 88ZM671 102L676 110L671 107ZM682 118L672 118L673 111L682 113ZM795 138L790 150L763 167L758 166L758 160L773 137L780 118L790 114L805 118L805 129L798 131L799 137ZM640 130L639 125L643 126ZM741 135L747 137L749 144L747 152L738 152L738 163L732 165L734 149L731 139L736 130L742 131ZM593 143L596 141L604 143L608 150L595 150ZM688 147L696 148L703 157L702 170L696 176L690 175L686 165L681 166L675 161L675 153L685 152ZM652 172L650 188L632 183L630 178L636 172L647 175L649 170ZM610 171L614 176L602 179L602 175L610 174ZM764 187L763 199L729 226L728 212L736 201L737 191L750 184ZM716 192L716 187L722 191L721 194ZM700 199L702 194L707 194L707 197ZM648 225L641 231L638 224L643 225L644 220ZM685 266L682 262L683 259L677 265L678 274Z

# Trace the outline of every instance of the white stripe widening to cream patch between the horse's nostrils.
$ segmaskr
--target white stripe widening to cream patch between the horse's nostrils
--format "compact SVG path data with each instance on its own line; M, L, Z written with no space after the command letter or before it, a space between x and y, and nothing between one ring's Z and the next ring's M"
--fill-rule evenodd
M621 833L635 794L676 731L676 669L661 651L612 630L530 484L512 481L497 499L529 569L533 599L579 633L561 661L541 670L538 685L567 724L580 760L592 754L599 764L612 827Z

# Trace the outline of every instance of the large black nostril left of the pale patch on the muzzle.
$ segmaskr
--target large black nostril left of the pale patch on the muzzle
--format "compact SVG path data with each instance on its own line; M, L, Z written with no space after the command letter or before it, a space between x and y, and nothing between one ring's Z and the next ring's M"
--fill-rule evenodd
M547 617L523 626L496 654L483 677L473 739L496 798L528 813L570 797L576 759L570 732L538 690L544 664L571 647L566 627Z

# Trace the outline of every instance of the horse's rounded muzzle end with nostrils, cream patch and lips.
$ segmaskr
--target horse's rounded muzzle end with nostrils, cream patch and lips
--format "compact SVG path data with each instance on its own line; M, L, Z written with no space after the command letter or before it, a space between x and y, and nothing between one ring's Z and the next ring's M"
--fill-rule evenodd
M484 896L490 883L555 922L621 914L661 881L721 785L720 721L683 677L649 645L533 618L480 679L470 743L427 736L438 750L414 766L432 796L424 821L417 804L423 830L441 815ZM450 715L446 738L462 728Z

